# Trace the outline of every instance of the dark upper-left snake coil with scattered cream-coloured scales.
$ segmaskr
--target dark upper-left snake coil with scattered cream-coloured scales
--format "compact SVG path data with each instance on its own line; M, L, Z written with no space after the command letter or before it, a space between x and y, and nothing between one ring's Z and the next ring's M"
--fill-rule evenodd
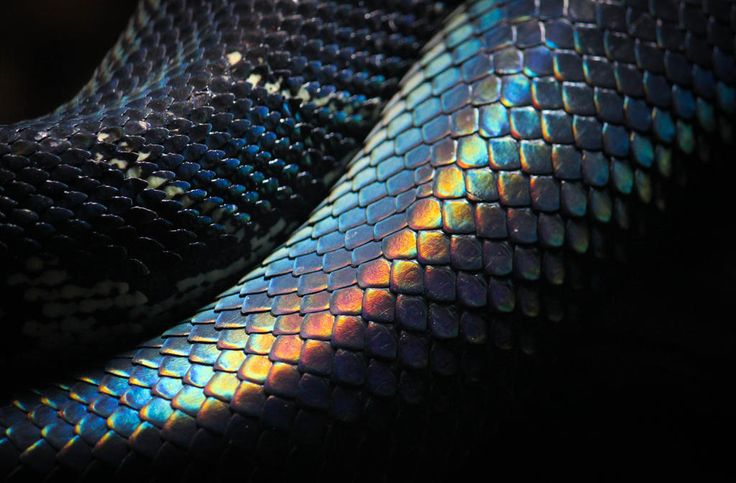
M3 358L132 344L234 283L324 198L444 10L141 2L79 95L0 126Z

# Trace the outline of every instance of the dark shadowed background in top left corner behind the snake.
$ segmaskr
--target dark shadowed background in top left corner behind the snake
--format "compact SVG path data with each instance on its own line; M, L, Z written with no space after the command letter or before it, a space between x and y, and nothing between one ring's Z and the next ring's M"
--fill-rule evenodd
M71 99L115 43L137 0L7 2L0 29L0 124Z

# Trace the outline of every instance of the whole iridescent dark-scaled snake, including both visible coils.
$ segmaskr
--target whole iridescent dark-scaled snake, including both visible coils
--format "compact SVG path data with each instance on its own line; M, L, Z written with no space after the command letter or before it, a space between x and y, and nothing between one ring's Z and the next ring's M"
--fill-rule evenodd
M733 2L469 0L454 10L453 5L421 1L369 3L242 2L246 7L241 10L236 1L144 2L128 33L75 100L50 117L3 128L2 142L16 140L12 154L2 158L3 179L10 179L13 187L4 191L3 206L14 210L33 211L15 208L12 196L18 206L25 206L20 203L26 199L41 203L38 197L29 199L32 190L27 186L42 178L38 171L46 163L56 163L79 166L62 168L60 176L107 180L117 170L118 179L143 180L148 187L127 205L146 213L141 222L160 217L173 224L176 217L168 216L182 209L192 210L187 220L218 225L214 238L186 228L192 232L187 240L203 240L193 242L202 245L192 257L205 257L191 266L195 272L208 266L210 254L237 272L240 262L252 264L259 256L255 244L278 243L278 236L265 233L274 226L291 230L255 268L184 322L168 325L160 335L65 382L10 399L0 410L0 469L11 479L273 479L279 474L274 468L290 464L296 474L309 471L302 448L319 448L330 439L325 435L339 428L391 420L382 408L391 412L396 401L421 400L421 381L457 370L451 353L459 346L492 344L498 338L498 320L559 319L558 304L548 295L575 283L576 260L606 256L616 233L630 230L638 213L666 205L664 192L679 170L704 157L714 140L733 136ZM204 18L213 22L209 28L200 26ZM184 22L177 27L179 34L171 33L175 20ZM347 25L344 32L341 22ZM277 35L296 31L303 36L295 42L284 40L288 34ZM345 56L338 54L343 42ZM369 62L368 54L352 47L355 42L363 42L361 48L378 57ZM238 43L242 47L232 50ZM393 57L385 54L394 48ZM149 52L150 58L168 59L163 70L146 63ZM329 52L353 70L346 67L349 73L341 77L342 71L317 68L324 64L307 68L311 64L295 52L316 58ZM244 72L237 68L241 62L247 65ZM187 71L187 64L193 66L191 74L172 80L173 73ZM370 75L356 73L360 69L386 69L385 77L374 74L374 82L384 89L380 94L369 88ZM293 72L303 72L303 77ZM309 81L310 75L318 80ZM326 87L330 82L342 87ZM244 88L238 92L247 92L246 99L262 99L272 91L283 109L289 99L298 99L293 104L301 106L279 111L280 117L272 119L255 102L244 101L247 122L237 125L245 128L247 140L239 164L229 161L230 147L211 149L210 143L240 146L236 141L243 138L231 131L232 137L210 138L197 128L200 123L207 126L205 131L218 132L216 93L233 85ZM175 101L179 95L186 97L186 106ZM231 123L230 130L239 122L231 112L242 109L239 102L230 95L223 108L232 114L222 116ZM121 105L125 108L112 107ZM106 119L101 112L112 113L114 119L101 121ZM144 116L136 114L142 112L148 117L141 122ZM288 122L288 114L296 124ZM115 124L121 116L127 119L118 122L122 127L80 127L86 122ZM283 131L271 127L271 121L286 126L282 147L289 149L304 136L303 148L295 148L291 156L275 154L276 140L266 140L266 133L278 137ZM309 128L289 131L302 121ZM80 131L74 134L68 122ZM346 124L351 122L371 127L365 140L356 126L349 134L352 127ZM169 127L159 129L158 123ZM138 128L145 132L136 134ZM189 129L189 138L180 139L178 129ZM253 129L261 144L249 158L246 146L252 146ZM51 134L70 131L68 141ZM24 132L37 139L28 140ZM41 133L46 132L44 144ZM333 150L329 135L349 146ZM157 137L160 144L154 142ZM205 176L206 183L197 177L182 183L179 171L162 172L169 163L193 163L184 161L187 148L172 154L176 142L199 144L202 139L206 148L196 148L203 157L198 169L214 167L207 170L213 174ZM86 150L73 147L80 142L87 143ZM131 147L136 143L148 148L136 150ZM353 143L359 147L348 153ZM51 154L62 145L72 154ZM270 153L271 146L273 155L262 154ZM222 154L207 154L213 150ZM106 157L113 151L115 155ZM114 157L119 151L132 155ZM149 161L149 152L154 161ZM288 171L287 159L298 164L307 153L322 162L294 168L309 174L302 177L306 184L274 174ZM77 163L80 156L86 161ZM277 156L284 158L283 165L270 164ZM345 156L350 160L343 163ZM263 167L264 160L269 168ZM89 168L90 163L102 165L100 171ZM323 163L328 166L317 166ZM227 175L231 165L237 168L232 181ZM262 169L264 176L278 179L274 191L269 191L270 182L253 188L270 209L226 208L226 195L217 190L240 179L243 167L248 174ZM18 173L17 178L6 172ZM225 181L216 183L217 176ZM316 192L331 176L339 179L298 228L288 222L254 221L296 218L289 214L290 204L307 204L307 195L299 190ZM143 187L139 181L130 184ZM156 193L144 195L146 190ZM200 190L207 191L201 199ZM220 193L222 204L208 190ZM288 196L279 198L279 192ZM79 218L97 210L85 203L105 207L107 200L112 209L118 195L99 196L77 205ZM287 203L279 204L284 199ZM12 237L28 238L16 226L25 230L21 219L33 218L26 211L14 216L11 220L17 223L3 232L8 247L12 245L6 240ZM238 235L236 221L244 220L249 228ZM226 244L220 245L218 236ZM45 249L41 238L28 245ZM154 244L145 245L148 251ZM159 245L166 247L165 237ZM28 273L79 263L73 257L64 262L63 253L54 253L56 258L26 259ZM135 253L131 248L125 257L132 260ZM179 253L181 260L187 253ZM168 256L162 263L173 261ZM33 278L18 273L22 287L48 285L48 274ZM70 278L59 283L76 283L73 277L81 277L71 269L65 276ZM161 275L171 280L186 276L177 270ZM29 302L44 299L45 293ZM144 308L145 298L140 301ZM401 407L411 410L411 404ZM334 453L325 458L327 467L330 457L339 466L342 458L354 461L362 451L352 444L330 448ZM307 454L306 461L312 461L314 453ZM317 456L325 457L319 450ZM269 458L275 463L259 473L259 465Z

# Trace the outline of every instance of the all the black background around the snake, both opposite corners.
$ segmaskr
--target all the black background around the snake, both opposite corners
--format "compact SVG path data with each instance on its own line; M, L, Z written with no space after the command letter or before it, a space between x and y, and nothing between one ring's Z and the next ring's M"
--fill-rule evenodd
M135 3L5 2L0 123L71 98ZM736 160L733 146L711 149L581 318L539 331L536 355L504 356L500 409L488 408L470 459L440 474L733 474Z

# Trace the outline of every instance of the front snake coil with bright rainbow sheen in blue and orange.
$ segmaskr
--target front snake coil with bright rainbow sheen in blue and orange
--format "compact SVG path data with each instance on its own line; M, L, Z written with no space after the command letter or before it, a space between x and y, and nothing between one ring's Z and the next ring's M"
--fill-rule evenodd
M3 408L9 473L217 474L208 448L245 458L274 431L293 441L414 397L417 377L451 370L445 342L545 315L569 257L655 203L673 159L731 135L735 27L730 2L466 3L257 269Z

